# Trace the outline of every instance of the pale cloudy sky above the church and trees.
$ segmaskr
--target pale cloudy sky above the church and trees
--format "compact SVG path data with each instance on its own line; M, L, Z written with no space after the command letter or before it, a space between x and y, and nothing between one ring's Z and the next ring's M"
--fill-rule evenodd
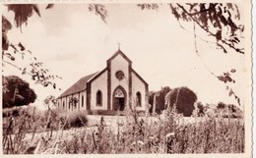
M62 77L56 80L62 90L34 84L30 77L22 76L12 66L3 68L5 76L17 75L30 82L37 94L36 104L50 94L60 95L78 79L104 69L106 60L118 50L118 43L133 62L133 69L149 83L149 90L187 86L203 103L236 104L228 96L224 82L209 72L222 75L235 69L236 82L231 87L241 100L245 98L243 74L248 70L244 55L224 54L215 44L202 40L213 39L196 27L200 59L195 49L193 25L181 23L183 29L167 5L160 5L158 11L142 11L135 4L108 4L105 5L106 24L89 12L87 4L55 5L49 10L44 10L45 6L39 5L41 17L34 14L22 32L14 27L8 37L13 43L21 41L44 68ZM13 23L14 14L2 8L5 17ZM27 58L17 59L17 64L26 67L30 63Z

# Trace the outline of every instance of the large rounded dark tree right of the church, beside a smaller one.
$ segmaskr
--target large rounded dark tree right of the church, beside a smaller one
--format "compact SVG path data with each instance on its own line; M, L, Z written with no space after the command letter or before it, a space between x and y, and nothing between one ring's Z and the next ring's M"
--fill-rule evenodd
M197 95L194 91L182 86L174 88L167 96L165 99L168 100L169 108L175 108L178 113L182 113L185 117L192 115L195 109L194 103L197 101Z

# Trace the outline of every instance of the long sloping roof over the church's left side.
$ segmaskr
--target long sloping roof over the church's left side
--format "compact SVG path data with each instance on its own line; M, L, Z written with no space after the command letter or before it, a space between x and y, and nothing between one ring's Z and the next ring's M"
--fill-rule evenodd
M92 79L96 76L98 72L91 74L89 76L86 76L82 79L79 79L76 83L74 83L72 86L70 86L66 91L64 91L58 98L77 93L79 91L83 91L87 88L87 81L89 79Z

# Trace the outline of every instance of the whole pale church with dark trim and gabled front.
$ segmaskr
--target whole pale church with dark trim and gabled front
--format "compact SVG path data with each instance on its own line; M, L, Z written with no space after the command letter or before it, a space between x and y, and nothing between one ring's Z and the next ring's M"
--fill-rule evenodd
M106 68L79 79L58 97L58 108L87 111L145 111L148 83L132 68L132 61L118 50Z

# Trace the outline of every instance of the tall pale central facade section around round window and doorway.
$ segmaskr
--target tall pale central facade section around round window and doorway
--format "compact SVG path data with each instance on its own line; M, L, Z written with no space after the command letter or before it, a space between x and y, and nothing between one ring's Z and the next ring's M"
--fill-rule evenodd
M129 105L129 63L119 54L111 61L111 92L110 92L110 109L113 110L112 100L113 92L118 85L121 85L125 89L126 103L125 106ZM122 71L124 73L124 79L116 79L115 73Z

